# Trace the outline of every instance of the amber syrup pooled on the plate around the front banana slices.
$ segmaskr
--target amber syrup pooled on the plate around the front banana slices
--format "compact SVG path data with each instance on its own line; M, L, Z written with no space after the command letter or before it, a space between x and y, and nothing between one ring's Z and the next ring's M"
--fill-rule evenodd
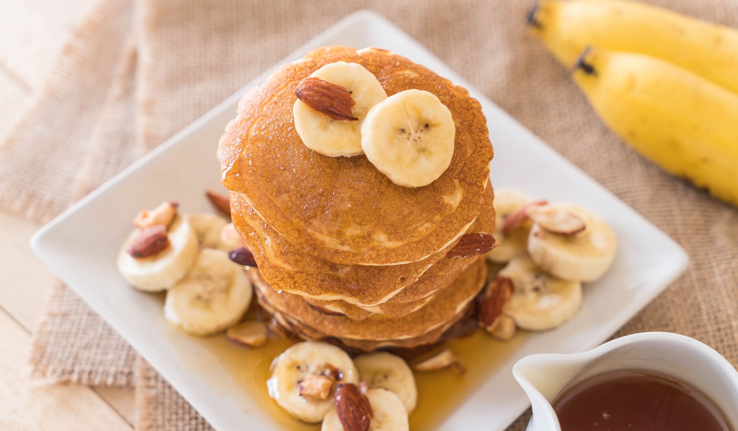
M232 342L224 335L202 339L203 348L215 355L223 369L242 390L257 400L258 408L269 413L286 431L317 431L320 424L306 424L282 410L266 392L269 365L290 345L291 339L270 334L269 341L258 348ZM450 348L458 356L466 373L453 367L432 372L415 372L418 385L418 406L410 415L410 430L432 431L441 426L487 378L508 360L525 342L527 334L519 332L507 341L493 339L477 329L463 338L450 339L442 348ZM197 366L196 364L190 364ZM442 390L441 390L442 388ZM254 407L254 406L249 406ZM246 410L246 406L244 406Z

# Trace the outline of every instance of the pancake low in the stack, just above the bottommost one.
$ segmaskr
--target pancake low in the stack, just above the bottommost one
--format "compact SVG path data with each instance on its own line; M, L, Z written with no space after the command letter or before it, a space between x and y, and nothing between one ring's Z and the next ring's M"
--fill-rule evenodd
M299 295L275 292L255 269L249 270L259 303L267 310L286 314L290 320L304 323L329 337L370 339L409 339L420 337L453 320L480 292L486 281L482 259L461 272L423 308L399 319L372 315L356 321L345 316L331 316L314 310Z

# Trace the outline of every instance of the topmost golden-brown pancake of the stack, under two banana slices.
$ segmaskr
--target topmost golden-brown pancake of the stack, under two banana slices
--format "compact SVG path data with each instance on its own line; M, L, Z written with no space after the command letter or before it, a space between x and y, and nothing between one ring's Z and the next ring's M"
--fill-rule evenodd
M366 158L328 157L294 130L297 83L327 63L359 63L387 95L435 94L456 125L449 168L424 187L401 187ZM455 241L479 214L492 145L477 100L424 66L378 49L314 49L275 71L239 103L218 148L223 184L242 193L299 252L345 264L392 265L427 258Z

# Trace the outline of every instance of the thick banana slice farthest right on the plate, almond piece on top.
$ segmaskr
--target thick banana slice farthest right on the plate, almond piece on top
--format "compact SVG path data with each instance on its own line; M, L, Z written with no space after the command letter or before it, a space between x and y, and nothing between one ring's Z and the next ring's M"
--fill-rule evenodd
M613 229L582 207L573 204L551 204L548 207L581 218L584 230L562 235L534 223L528 235L528 253L533 261L564 280L593 281L604 275L618 248L618 238Z

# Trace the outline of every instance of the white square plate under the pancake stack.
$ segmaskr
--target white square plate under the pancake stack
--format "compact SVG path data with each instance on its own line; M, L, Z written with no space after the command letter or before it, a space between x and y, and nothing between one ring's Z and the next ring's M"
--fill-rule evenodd
M390 49L466 87L482 104L492 131L495 187L518 187L532 196L582 204L607 219L618 235L621 245L613 268L587 286L582 311L554 331L526 337L519 350L441 425L441 430L504 430L529 405L511 374L517 359L599 345L683 271L686 253L382 16L368 11L349 15L284 62L327 45ZM241 94L263 82L271 71L46 224L32 239L41 259L219 431L278 428L212 352L165 322L159 298L136 292L125 283L115 258L137 209L174 200L187 210L211 210L203 190L219 187L218 139L235 117ZM201 364L194 369L181 360L193 356Z

